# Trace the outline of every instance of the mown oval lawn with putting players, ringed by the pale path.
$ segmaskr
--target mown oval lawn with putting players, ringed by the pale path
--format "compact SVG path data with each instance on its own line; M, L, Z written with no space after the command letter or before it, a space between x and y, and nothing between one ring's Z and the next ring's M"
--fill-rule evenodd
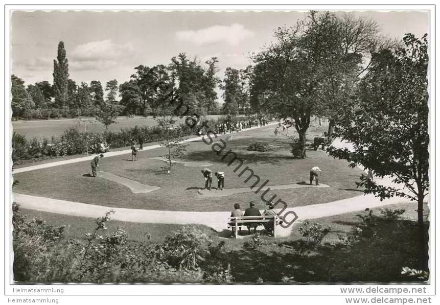
M322 128L323 129L323 128ZM310 138L320 134L322 130L309 132ZM230 135L226 135L226 138ZM224 136L221 138L225 138ZM252 142L267 142L272 150L268 152L247 151ZM217 142L216 142L217 143ZM355 181L361 175L359 169L351 169L348 162L330 158L321 150L307 151L307 158L293 159L290 153L289 139L273 134L273 128L260 128L233 134L227 140L226 150L232 150L243 159L244 166L251 168L261 177L261 181L269 180L267 186L290 184L309 179L309 171L314 166L322 170L320 182L330 185L329 188L314 189L313 187L292 190L276 190L266 194L265 199L273 195L286 201L288 206L300 206L324 203L361 195L356 190ZM18 173L14 178L19 182L13 190L17 193L64 199L89 204L112 207L158 209L158 210L188 210L188 211L222 211L230 210L234 203L244 205L250 200L257 207L265 208L260 194L244 193L224 197L200 197L199 187L204 186L200 167L185 167L181 163L173 166L173 174L167 175L161 167L165 162L148 159L160 156L165 149L155 149L140 152L139 160L132 162L130 155L103 158L99 170L132 179L134 181L160 186L161 189L147 194L133 194L127 187L104 179L84 177L90 172L89 162L79 162L72 165L58 166L48 169ZM245 173L238 177L234 173L235 165L228 167L211 145L193 142L187 147L188 161L210 162L213 171L224 171L225 187L249 187L253 180L245 183ZM243 167L244 167L243 166ZM216 185L216 179L213 179Z

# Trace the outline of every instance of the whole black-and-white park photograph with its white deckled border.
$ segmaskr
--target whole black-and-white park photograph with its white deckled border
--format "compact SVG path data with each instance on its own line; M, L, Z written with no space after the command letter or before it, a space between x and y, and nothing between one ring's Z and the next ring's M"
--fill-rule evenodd
M54 7L5 9L9 285L432 283L432 6Z

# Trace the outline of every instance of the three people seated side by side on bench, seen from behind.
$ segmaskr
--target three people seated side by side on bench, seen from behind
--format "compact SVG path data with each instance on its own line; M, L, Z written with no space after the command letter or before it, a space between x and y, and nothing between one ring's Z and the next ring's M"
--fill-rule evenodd
M234 204L234 210L231 212L230 217L246 217L246 216L276 216L277 213L274 209L275 204L273 203L273 201L269 202L269 204L267 205L267 209L265 209L263 211L263 213L260 212L260 210L258 208L255 207L255 202L250 201L249 202L249 207L246 208L244 210L244 212L240 209L240 204L236 203ZM231 222L231 224L234 224L234 222ZM257 232L257 227L260 225L263 225L264 228L266 229L266 231L268 233L273 234L273 220L269 221L269 222L247 222L247 223L238 223L238 233L239 235L241 235L241 226L242 225L246 225L247 230L249 231L249 233L252 233L251 229L253 228L253 232L256 233ZM237 229L235 226L232 226L232 233L234 235L235 230Z

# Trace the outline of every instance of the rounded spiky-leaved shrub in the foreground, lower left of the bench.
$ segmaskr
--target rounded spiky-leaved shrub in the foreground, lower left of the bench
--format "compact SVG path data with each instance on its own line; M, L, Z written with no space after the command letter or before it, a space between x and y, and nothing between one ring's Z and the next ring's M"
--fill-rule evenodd
M171 266L183 270L196 270L199 263L210 253L211 240L201 230L184 226L171 233L165 240L164 249Z

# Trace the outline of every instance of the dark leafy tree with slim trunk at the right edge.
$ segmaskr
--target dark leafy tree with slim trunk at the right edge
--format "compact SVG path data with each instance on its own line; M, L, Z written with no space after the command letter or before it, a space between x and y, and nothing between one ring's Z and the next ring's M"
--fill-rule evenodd
M422 268L427 267L423 201L429 190L428 42L406 34L397 50L376 53L360 83L357 110L337 134L353 149L329 148L333 157L391 176L403 187L381 185L361 176L356 184L380 199L404 197L418 202Z

